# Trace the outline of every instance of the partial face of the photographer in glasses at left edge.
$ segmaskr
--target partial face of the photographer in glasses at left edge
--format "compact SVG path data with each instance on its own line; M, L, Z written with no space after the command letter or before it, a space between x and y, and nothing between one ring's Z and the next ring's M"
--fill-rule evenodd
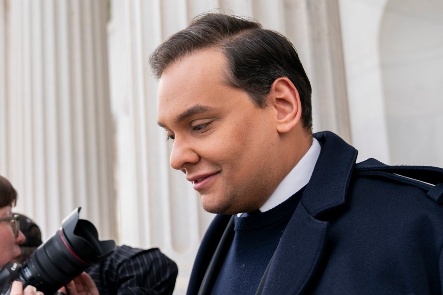
M11 208L11 206L1 207L0 218L11 217ZM25 236L22 232L19 232L18 237L15 237L9 221L0 221L0 267L22 254L19 244L24 241Z

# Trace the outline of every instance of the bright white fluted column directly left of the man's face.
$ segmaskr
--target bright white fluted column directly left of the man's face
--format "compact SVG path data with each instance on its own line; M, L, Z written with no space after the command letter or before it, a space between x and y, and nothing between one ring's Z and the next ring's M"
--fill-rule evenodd
M157 125L157 81L148 57L188 23L185 1L112 1L109 24L112 113L116 121L120 240L160 247L180 269L184 294L201 237L212 214L183 174L169 166L171 144ZM167 8L164 6L166 5Z

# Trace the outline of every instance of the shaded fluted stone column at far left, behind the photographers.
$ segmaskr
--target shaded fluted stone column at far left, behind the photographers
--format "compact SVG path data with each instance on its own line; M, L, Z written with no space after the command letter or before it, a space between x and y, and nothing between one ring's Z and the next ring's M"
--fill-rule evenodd
M16 210L48 237L81 206L100 237L116 237L107 1L3 3L0 173L19 192Z

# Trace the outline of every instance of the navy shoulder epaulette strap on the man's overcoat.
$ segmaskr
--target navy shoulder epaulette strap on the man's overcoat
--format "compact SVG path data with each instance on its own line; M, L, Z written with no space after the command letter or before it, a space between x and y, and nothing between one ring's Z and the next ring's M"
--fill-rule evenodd
M355 165L359 176L388 178L421 188L439 205L443 204L443 169L432 166L389 166L376 159L368 159Z

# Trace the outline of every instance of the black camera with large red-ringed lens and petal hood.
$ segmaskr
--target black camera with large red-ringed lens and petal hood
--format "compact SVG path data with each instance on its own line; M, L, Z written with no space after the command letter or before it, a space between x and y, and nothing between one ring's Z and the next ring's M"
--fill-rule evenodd
M79 219L77 207L62 221L62 227L40 245L23 265L9 262L0 270L0 295L8 295L13 281L32 285L45 295L53 295L89 266L111 254L114 240L98 240L95 226Z

